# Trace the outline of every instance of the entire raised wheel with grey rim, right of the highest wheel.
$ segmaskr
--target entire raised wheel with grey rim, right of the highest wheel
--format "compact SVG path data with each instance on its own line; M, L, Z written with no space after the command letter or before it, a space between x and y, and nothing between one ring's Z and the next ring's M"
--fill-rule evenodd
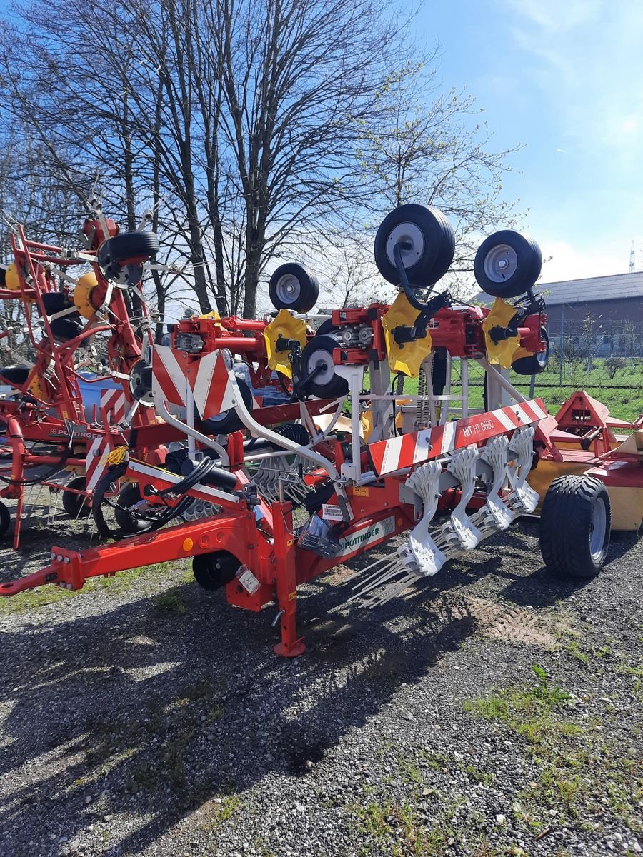
M478 247L473 273L492 297L518 297L532 288L543 267L543 254L528 235L513 229L494 232Z

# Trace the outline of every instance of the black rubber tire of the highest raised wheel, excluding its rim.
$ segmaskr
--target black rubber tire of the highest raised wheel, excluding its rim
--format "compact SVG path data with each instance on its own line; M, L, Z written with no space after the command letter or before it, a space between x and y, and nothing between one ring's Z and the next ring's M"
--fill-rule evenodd
M413 256L403 260L409 282L417 287L433 285L447 273L455 253L453 227L438 208L408 203L387 214L376 233L377 270L388 283L400 284L400 273L388 256L388 249L396 238L405 237L403 230L395 232L396 227L403 224L416 226L424 239L422 245L411 251ZM415 261L412 261L413 257Z

